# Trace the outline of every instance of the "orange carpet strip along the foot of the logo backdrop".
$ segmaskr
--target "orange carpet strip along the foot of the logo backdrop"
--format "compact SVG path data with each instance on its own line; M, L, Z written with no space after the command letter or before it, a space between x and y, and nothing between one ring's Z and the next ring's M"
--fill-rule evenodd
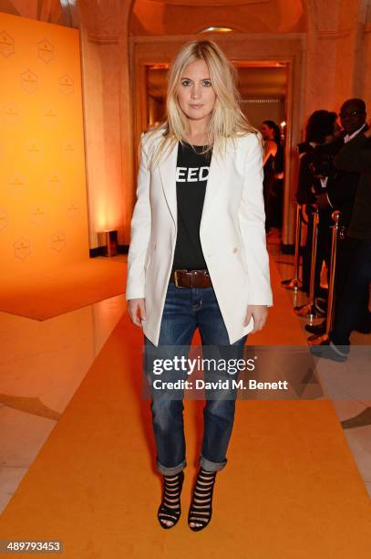
M90 258L39 275L0 280L0 311L45 321L119 295L126 284L124 259Z

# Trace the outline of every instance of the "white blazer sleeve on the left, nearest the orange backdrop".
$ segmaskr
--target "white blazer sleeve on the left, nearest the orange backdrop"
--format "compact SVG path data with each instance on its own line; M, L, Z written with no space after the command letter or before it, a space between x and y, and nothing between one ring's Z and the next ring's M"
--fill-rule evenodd
M137 183L137 202L131 218L131 238L128 254L128 280L126 299L145 296L145 264L149 249L151 211L149 203L149 154L141 137L140 162Z

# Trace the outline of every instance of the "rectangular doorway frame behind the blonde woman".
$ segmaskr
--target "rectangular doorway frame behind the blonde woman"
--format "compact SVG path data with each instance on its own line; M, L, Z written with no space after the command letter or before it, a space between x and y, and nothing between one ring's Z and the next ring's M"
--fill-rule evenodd
M207 36L222 47L232 63L283 63L287 68L285 173L283 187L283 251L294 246L294 195L297 185L298 157L296 144L302 138L305 105L305 34L239 34L210 33ZM200 34L191 36L130 37L130 75L133 115L133 145L138 146L140 133L146 122L147 79L146 68L155 64L170 64L182 45L200 40ZM134 149L137 154L137 150ZM138 169L135 156L134 170ZM135 173L136 174L136 173ZM134 175L135 175L134 174ZM135 185L133 185L135 191Z

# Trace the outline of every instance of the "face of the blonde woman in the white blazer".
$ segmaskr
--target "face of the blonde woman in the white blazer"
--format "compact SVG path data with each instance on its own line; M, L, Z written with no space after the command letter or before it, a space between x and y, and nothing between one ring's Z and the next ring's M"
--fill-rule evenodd
M216 100L210 73L204 60L196 60L183 71L178 88L181 111L192 121L211 119Z

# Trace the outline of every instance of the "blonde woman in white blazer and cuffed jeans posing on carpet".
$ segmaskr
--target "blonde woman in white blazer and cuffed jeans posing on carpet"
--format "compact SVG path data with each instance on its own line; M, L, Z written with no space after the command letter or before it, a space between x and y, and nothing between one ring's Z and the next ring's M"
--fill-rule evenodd
M263 328L272 304L262 147L240 111L233 72L211 41L182 47L170 69L167 119L142 136L126 297L132 322L155 353L182 353L196 328L202 345L241 348L248 332ZM233 399L207 400L204 408L193 531L211 520L234 406ZM164 480L158 518L169 529L180 517L186 466L182 400L153 390L151 411Z

